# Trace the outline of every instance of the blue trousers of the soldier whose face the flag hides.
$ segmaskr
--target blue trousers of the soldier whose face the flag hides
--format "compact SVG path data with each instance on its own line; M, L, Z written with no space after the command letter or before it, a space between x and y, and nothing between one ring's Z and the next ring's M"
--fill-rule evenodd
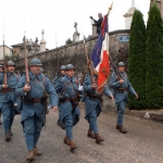
M95 134L98 134L97 110L98 110L98 106L88 114L89 130L93 130Z

